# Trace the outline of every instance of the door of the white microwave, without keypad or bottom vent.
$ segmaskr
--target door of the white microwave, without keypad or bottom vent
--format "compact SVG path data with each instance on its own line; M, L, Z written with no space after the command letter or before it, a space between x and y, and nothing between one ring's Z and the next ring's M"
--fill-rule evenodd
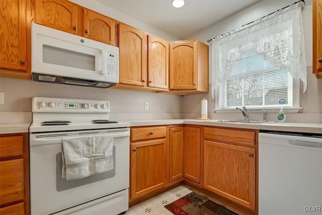
M106 81L105 44L33 25L32 71L55 76ZM41 31L42 30L42 31Z

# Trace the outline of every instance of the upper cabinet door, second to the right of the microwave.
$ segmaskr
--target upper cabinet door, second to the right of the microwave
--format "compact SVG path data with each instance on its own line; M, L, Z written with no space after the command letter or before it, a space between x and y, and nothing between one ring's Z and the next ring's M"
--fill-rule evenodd
M148 87L168 89L169 83L169 42L148 35Z

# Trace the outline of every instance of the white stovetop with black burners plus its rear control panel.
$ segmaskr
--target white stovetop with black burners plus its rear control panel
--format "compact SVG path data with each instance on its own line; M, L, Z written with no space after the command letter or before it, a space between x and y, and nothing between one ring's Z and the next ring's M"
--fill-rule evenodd
M109 120L108 101L34 97L30 132L55 132L129 127Z

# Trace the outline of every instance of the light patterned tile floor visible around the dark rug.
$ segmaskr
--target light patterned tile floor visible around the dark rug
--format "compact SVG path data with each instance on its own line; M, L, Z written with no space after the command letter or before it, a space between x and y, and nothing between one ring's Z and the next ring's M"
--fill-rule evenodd
M176 187L172 190L169 190L167 192L161 193L159 195L156 195L152 198L149 198L139 204L136 204L132 207L130 207L125 214L128 215L171 215L169 210L165 208L165 205L187 195L188 193L195 191L196 193L199 193L201 195L204 195L203 193L200 193L199 191L193 190L192 188L186 186L186 185L181 185L179 187ZM216 202L217 204L222 205L220 202L218 202L215 199L212 199L209 197L210 200L213 202ZM223 205L225 206L225 205ZM225 206L226 207L226 206ZM234 211L237 214L242 215L239 211L236 211L235 209L231 207L226 207L229 210Z

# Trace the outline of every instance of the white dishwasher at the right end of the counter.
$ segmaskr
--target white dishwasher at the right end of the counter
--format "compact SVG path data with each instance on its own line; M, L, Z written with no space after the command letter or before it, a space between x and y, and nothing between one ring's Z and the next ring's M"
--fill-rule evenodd
M263 214L322 214L322 136L259 133Z

